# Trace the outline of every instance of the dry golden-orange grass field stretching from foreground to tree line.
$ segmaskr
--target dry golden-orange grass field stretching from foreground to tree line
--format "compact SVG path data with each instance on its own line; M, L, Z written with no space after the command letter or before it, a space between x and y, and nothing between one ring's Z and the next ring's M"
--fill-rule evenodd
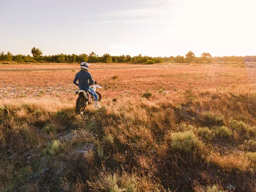
M92 65L80 116L78 65L47 66L0 65L0 191L256 192L256 69Z

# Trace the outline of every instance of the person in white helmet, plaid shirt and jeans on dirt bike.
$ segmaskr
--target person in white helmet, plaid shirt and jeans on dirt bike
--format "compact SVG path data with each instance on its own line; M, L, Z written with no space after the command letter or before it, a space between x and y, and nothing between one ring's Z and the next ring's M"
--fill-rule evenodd
M93 96L95 108L101 108L99 106L99 100L98 100L97 94L95 93L93 88L90 87L90 84L97 84L97 81L94 81L91 74L88 72L89 65L90 64L86 62L82 62L80 64L81 70L78 73L76 73L76 77L73 83L79 86L79 89L86 90L88 93L90 93L91 96ZM79 83L76 82L77 80Z

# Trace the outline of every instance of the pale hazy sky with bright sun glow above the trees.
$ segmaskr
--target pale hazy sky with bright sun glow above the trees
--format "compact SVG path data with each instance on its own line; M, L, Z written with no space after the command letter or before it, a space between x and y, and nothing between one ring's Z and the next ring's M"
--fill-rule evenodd
M0 0L0 51L256 55L255 0Z

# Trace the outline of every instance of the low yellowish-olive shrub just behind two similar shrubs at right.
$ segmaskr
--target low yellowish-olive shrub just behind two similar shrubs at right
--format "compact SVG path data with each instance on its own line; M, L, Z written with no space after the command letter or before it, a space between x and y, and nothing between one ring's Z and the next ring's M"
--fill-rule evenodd
M224 125L224 117L222 115L212 113L210 111L205 111L201 113L201 119L205 126L213 126L213 125Z

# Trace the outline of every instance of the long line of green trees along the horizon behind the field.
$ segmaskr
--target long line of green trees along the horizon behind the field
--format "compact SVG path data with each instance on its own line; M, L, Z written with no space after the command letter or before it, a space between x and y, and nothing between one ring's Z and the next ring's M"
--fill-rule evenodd
M17 61L18 63L134 63L134 64L155 64L155 63L244 63L244 62L256 62L255 56L224 56L224 57L212 57L208 52L204 52L200 57L196 57L195 53L189 51L183 55L177 55L176 57L150 57L150 56L131 56L131 55L119 55L114 56L105 53L102 56L96 55L95 52L87 54L58 54L58 55L43 55L43 52L33 47L31 49L32 56L30 55L13 55L11 52L1 52L0 60L5 63L8 61Z

